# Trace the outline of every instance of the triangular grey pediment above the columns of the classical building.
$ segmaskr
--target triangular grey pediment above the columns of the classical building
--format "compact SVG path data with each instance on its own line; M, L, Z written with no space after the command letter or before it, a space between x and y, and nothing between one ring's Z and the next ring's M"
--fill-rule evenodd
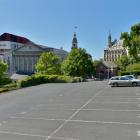
M37 45L24 45L21 48L15 50L16 52L40 52L43 51L43 48L37 46Z

